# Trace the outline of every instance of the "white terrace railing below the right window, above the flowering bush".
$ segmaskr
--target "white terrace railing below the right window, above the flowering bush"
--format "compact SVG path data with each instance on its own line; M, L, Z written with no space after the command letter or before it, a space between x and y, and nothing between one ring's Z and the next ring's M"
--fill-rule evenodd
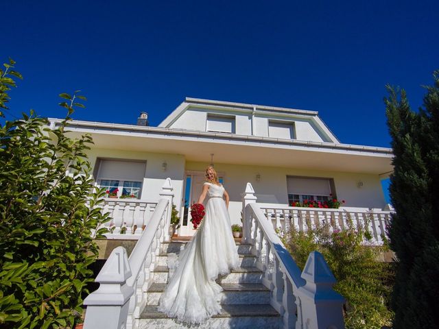
M368 208L300 208L278 204L260 204L265 217L272 221L278 232L288 232L291 228L306 231L309 228L327 225L329 230L344 230L348 221L357 228L365 228L372 239L368 243L382 245L386 236L386 226L390 220L390 211Z

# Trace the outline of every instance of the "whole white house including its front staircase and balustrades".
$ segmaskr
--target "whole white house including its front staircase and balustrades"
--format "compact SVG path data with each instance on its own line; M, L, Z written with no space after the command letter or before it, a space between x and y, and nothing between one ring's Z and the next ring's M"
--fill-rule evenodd
M380 180L392 171L392 149L342 144L317 112L191 98L158 127L142 113L137 125L72 121L69 129L93 136L108 239L138 240L130 258L117 247L99 272L99 289L84 300L86 329L185 328L157 310L168 255L182 247L167 233L170 206L180 210L178 234L192 235L189 206L211 163L244 236L241 267L219 281L222 312L200 328L344 328L344 298L322 255L311 253L300 271L276 229L324 222L338 230L350 217L383 243L390 212L381 211ZM289 206L333 197L346 200L343 210Z

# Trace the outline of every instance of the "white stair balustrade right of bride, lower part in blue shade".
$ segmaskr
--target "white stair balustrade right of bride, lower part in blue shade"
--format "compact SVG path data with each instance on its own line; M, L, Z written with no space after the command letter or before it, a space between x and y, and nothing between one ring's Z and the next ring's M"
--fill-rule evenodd
M285 209L278 210L270 212L250 202L245 208L244 242L252 244L256 266L263 270L262 282L271 291L270 304L283 317L283 328L343 329L344 298L332 289L335 279L331 270L321 255L313 252L303 273L300 271L276 234L280 219L267 221L268 213L289 216Z

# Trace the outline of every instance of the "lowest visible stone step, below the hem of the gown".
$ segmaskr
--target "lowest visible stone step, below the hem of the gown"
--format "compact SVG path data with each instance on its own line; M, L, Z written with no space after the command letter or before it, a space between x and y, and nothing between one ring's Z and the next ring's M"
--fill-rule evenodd
M239 329L283 328L281 316L270 304L222 305L221 313L213 315L196 328L239 328ZM187 324L158 312L157 306L146 306L140 315L139 328L188 328Z

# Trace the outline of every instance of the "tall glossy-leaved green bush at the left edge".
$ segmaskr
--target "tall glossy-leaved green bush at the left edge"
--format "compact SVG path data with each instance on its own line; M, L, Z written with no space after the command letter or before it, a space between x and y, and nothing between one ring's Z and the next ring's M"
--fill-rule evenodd
M20 77L13 65L0 70L3 109ZM108 220L85 154L91 138L66 131L85 98L60 96L67 117L54 129L34 112L0 126L0 328L73 326L97 258L92 232Z

